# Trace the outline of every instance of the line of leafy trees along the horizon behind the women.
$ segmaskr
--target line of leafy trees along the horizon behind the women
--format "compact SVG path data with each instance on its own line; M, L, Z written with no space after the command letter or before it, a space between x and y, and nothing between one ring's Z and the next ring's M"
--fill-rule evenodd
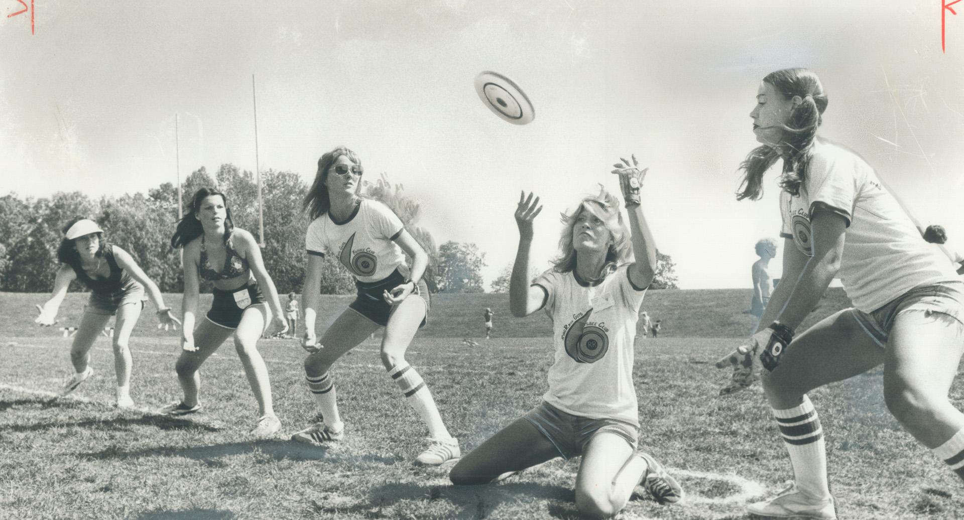
M213 174L201 167L181 185L186 202L204 186L217 186L228 195L234 225L258 235L257 184L254 173L226 164ZM448 241L437 246L432 234L417 225L418 200L401 184L392 184L383 174L366 181L363 195L380 200L405 224L426 250L429 266L424 275L432 292L481 293L481 270L485 252L475 244ZM305 233L308 216L302 200L308 185L292 171L268 169L261 174L264 213L265 268L281 294L301 292L305 281ZM186 208L185 208L186 211ZM177 221L177 188L164 183L133 194L94 199L80 192L56 193L50 197L0 196L0 291L48 292L57 269L56 250L63 238L61 228L74 217L93 219L103 228L105 239L129 252L161 291L179 293L184 289L180 254L171 247ZM660 273L654 288L675 288L672 260L660 255ZM511 273L511 266L509 267ZM504 273L503 273L504 274ZM494 292L507 292L508 277L500 275L492 284ZM202 287L202 290L209 287ZM84 290L73 282L71 290ZM323 294L352 294L354 283L335 257L324 261Z

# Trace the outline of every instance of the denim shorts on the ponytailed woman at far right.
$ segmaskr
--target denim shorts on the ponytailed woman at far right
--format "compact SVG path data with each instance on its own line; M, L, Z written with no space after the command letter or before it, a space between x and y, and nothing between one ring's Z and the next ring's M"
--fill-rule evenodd
M944 281L915 287L870 312L850 309L857 323L881 347L887 345L897 316L910 311L921 311L924 316L932 316L935 320L964 326L964 281Z

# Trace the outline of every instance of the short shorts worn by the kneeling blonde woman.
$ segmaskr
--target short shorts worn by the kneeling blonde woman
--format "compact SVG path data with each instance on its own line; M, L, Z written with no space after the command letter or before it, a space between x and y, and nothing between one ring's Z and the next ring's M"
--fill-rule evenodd
M522 417L542 431L559 451L559 455L566 459L582 455L582 450L593 436L603 431L619 435L633 450L636 449L639 438L639 429L626 421L580 417L566 413L545 401Z

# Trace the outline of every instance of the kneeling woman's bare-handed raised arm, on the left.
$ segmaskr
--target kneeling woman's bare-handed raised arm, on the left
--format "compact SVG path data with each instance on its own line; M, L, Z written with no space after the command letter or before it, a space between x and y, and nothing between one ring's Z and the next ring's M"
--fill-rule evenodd
M516 207L516 225L519 226L519 249L516 250L516 262L512 265L512 277L509 279L509 310L513 316L522 318L541 309L546 304L546 291L539 286L532 285L529 280L529 250L532 248L532 221L542 211L539 197L533 200L530 192L519 195L519 205Z

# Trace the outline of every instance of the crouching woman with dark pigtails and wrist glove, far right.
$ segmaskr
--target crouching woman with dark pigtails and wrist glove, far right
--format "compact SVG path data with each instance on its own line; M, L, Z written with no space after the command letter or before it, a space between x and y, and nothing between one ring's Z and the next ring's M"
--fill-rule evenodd
M805 68L771 72L750 113L762 145L741 165L737 199L762 195L782 161L783 277L757 333L720 359L732 393L763 375L790 453L793 483L747 507L766 517L837 517L823 429L807 393L884 365L884 401L897 421L964 477L964 414L948 399L964 351L964 282L921 238L911 217L860 156L817 137L827 95ZM839 277L854 308L794 334ZM760 371L763 366L765 370Z

